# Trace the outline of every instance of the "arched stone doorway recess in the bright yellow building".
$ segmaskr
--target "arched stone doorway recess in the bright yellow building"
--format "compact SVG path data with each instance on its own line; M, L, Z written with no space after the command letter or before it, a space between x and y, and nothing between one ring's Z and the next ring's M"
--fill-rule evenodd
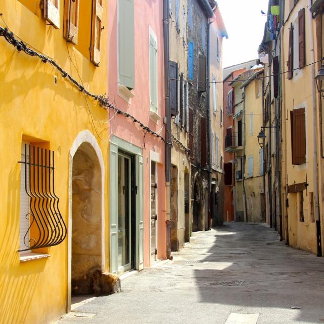
M80 144L72 160L71 294L98 294L102 271L102 171L97 153Z

